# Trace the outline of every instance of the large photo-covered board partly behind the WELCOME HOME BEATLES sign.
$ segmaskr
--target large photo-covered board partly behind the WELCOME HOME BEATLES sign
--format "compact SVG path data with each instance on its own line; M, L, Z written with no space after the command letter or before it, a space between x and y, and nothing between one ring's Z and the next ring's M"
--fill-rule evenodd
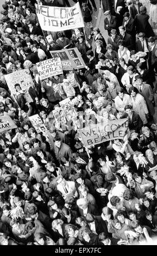
M50 52L53 58L60 57L63 70L85 68L84 60L77 47Z

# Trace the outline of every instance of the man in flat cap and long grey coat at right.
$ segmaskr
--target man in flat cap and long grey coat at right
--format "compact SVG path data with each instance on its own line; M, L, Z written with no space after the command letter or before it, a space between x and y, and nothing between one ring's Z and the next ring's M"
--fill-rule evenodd
M149 114L152 116L155 114L155 109L153 106L153 91L149 84L143 83L143 80L140 75L135 76L134 87L137 88L139 93L144 97L147 103Z

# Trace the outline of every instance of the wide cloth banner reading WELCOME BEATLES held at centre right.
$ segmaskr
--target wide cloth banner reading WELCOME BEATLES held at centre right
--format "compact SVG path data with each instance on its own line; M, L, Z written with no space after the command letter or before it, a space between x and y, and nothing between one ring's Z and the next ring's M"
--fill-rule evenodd
M128 129L128 119L108 121L79 130L85 146L96 145L112 139L122 139Z

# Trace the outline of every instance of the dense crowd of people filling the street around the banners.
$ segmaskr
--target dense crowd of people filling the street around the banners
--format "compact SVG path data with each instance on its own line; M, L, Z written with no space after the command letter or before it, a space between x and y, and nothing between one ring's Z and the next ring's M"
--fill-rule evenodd
M108 39L92 23L99 2L79 0L85 30L61 32L43 32L35 7L68 0L2 5L0 115L17 128L0 133L0 245L141 245L157 236L157 1L102 0ZM36 63L73 47L85 68L40 80ZM16 83L12 94L5 75L23 69L34 86ZM74 118L56 119L67 98ZM35 130L35 114L47 130ZM85 147L80 127L124 118L123 139Z

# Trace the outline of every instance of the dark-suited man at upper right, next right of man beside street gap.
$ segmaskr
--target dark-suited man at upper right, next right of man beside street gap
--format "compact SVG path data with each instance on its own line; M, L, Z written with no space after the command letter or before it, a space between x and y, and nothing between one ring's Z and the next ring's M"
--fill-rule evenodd
M126 28L126 32L135 38L135 26L134 19L131 18L129 13L124 14L124 20L122 24Z

